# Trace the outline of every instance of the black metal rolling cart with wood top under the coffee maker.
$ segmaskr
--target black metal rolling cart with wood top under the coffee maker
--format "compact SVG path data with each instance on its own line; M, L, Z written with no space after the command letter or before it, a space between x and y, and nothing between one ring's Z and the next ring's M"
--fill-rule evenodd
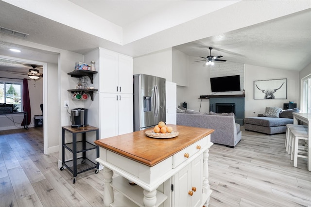
M72 143L65 143L65 130L72 133ZM98 173L99 163L93 162L86 158L86 151L96 150L96 158L99 157L99 149L95 144L86 141L86 132L96 131L96 140L99 139L99 130L97 127L78 127L72 128L71 126L62 127L62 167L60 170L64 170L66 167L73 174L73 183L76 182L77 174L94 169L95 173ZM77 134L82 133L82 141L77 142ZM65 149L72 153L72 159L65 161ZM77 158L77 153L82 153L81 158Z

